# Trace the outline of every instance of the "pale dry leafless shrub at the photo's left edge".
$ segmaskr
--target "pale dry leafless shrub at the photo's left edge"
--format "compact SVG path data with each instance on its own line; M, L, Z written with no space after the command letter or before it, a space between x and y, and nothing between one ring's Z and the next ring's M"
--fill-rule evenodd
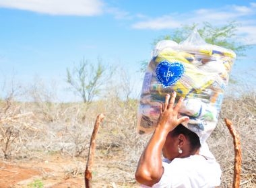
M27 146L38 134L34 114L11 98L0 103L0 148L4 159L27 158Z

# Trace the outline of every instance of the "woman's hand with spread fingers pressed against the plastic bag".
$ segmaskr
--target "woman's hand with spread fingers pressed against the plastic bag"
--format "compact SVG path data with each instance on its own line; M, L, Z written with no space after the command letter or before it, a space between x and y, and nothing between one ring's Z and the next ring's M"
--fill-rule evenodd
M178 112L181 107L181 104L183 103L183 97L181 97L177 105L174 106L176 95L177 94L175 91L172 92L172 97L170 97L170 95L167 94L165 97L164 104L161 104L160 106L158 128L166 130L167 132L174 130L174 128L176 128L179 124L189 120L189 117L187 116L178 118Z

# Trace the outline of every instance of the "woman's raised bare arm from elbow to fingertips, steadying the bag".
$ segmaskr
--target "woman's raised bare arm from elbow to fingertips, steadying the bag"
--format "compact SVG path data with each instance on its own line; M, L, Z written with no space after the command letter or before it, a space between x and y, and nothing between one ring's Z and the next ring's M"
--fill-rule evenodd
M162 148L166 141L166 136L176 126L182 122L189 120L188 117L178 118L178 111L183 102L181 97L174 107L174 101L176 92L170 95L166 95L164 104L160 107L160 117L158 119L158 125L156 130L152 134L148 145L141 154L135 178L139 183L143 185L152 186L158 183L162 177L164 169L162 167Z

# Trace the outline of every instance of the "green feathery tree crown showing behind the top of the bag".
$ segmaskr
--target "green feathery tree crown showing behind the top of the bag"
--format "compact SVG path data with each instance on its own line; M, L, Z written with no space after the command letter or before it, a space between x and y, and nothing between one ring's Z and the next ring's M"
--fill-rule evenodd
M238 26L239 24L236 21L228 22L226 25L219 27L212 26L211 23L204 22L201 28L198 27L198 24L194 23L191 26L183 26L173 30L168 35L156 38L152 43L152 46L155 46L160 40L173 40L180 43L184 41L195 28L197 28L197 32L200 34L201 38L203 38L203 40L208 44L215 44L217 46L233 50L237 56L245 56L245 50L251 48L251 46L238 42L240 41L236 35ZM141 62L140 71L146 71L147 63L148 62L145 60Z

